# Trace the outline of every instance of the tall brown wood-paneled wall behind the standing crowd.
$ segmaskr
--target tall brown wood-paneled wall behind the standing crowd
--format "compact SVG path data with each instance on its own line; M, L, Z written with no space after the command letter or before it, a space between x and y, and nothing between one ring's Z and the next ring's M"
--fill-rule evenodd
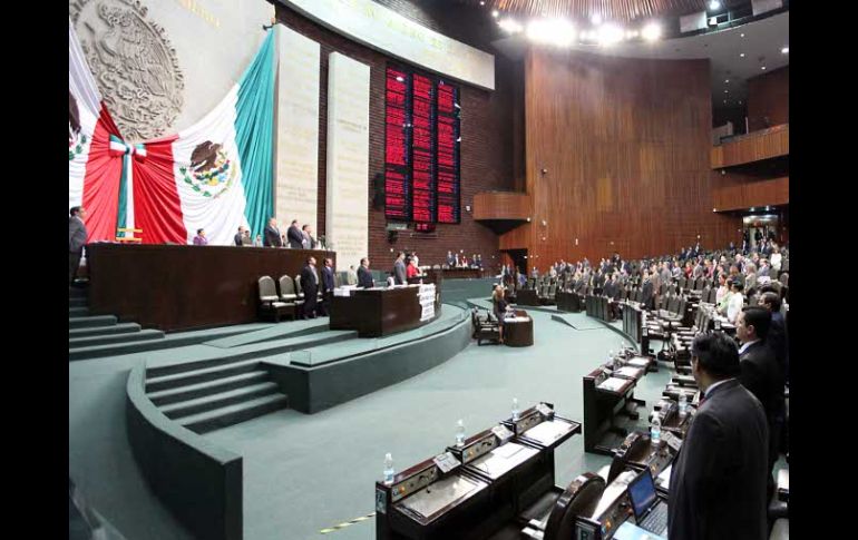
M516 239L538 266L733 239L734 220L712 213L708 61L532 49L525 73L534 215Z

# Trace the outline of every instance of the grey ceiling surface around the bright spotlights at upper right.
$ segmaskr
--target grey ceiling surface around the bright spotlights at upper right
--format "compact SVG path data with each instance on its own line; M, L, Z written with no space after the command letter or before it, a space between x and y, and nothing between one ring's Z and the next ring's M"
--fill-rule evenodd
M515 60L521 59L529 46L523 35L504 38L493 45ZM747 102L749 78L789 66L789 53L781 52L784 47L789 47L789 11L740 27L689 38L653 42L620 42L610 48L575 43L569 48L623 58L666 60L709 58L712 104L715 108L722 108L740 106L739 101L742 101L742 105ZM727 80L730 82L725 82ZM724 92L724 90L729 91ZM728 104L723 102L724 99Z

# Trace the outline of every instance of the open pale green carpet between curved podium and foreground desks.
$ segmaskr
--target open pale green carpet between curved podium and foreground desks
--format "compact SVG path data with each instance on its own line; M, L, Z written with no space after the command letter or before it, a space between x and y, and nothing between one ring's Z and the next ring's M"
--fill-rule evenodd
M523 409L552 402L558 414L582 421L582 376L621 337L532 314L532 347L474 343L435 370L329 411L282 411L207 434L244 456L245 538L320 538L321 529L369 514L386 452L397 470L410 467L452 443L458 419L471 434L508 416L513 397ZM666 370L647 375L637 395L651 405L669 379ZM585 454L576 435L556 452L557 481L565 485L607 462ZM374 522L325 538L371 539Z

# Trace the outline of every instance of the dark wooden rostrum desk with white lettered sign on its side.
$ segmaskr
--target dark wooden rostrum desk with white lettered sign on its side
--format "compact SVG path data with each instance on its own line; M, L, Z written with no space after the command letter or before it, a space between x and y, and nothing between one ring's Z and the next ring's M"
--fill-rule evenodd
M420 286L357 288L331 297L331 330L357 330L360 337L380 337L417 328L441 313L441 292L435 289L435 317L420 321Z

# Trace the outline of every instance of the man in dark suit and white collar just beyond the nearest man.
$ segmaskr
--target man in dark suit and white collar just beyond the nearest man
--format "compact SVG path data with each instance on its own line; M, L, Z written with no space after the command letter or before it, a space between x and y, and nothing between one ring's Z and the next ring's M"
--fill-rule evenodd
M742 346L739 348L739 363L742 369L740 382L762 404L766 422L769 425L769 468L767 478L768 495L774 490L772 468L778 461L779 419L783 415L783 372L774 354L766 345L771 325L771 313L764 307L745 307L739 314L735 335Z

